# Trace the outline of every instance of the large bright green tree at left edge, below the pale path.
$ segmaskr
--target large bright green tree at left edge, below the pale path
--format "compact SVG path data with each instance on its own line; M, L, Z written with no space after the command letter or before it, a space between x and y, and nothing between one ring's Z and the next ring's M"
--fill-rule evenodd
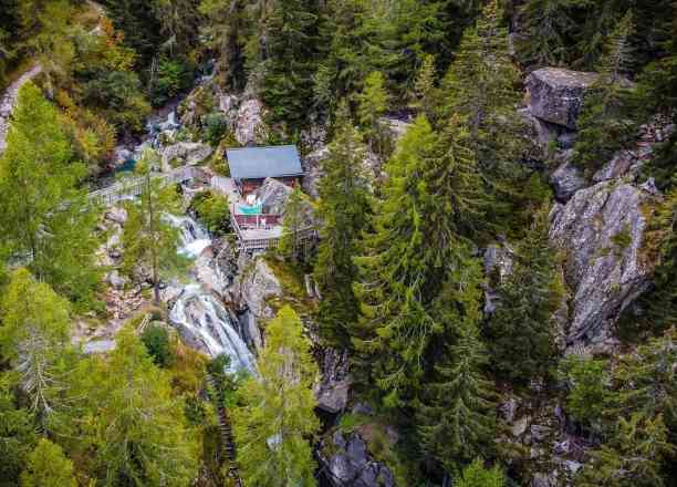
M77 188L86 168L72 149L56 110L38 87L19 93L0 159L0 238L35 278L80 303L100 282L94 252L97 213Z

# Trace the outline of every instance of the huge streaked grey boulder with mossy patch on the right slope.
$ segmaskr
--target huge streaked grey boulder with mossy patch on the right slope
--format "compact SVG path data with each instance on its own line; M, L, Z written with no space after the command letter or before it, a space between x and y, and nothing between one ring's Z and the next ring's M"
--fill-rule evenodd
M550 238L565 255L572 292L567 345L613 344L613 324L648 286L643 206L650 198L629 184L605 182L552 209Z

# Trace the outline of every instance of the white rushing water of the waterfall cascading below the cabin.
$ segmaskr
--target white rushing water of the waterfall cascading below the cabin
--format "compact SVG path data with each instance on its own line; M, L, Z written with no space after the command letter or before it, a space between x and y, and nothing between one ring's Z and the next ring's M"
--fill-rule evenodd
M209 234L192 218L167 215L181 236L179 252L197 257L211 245ZM185 334L199 341L211 356L230 358L230 371L246 369L256 373L256 361L238 333L235 317L211 292L192 281L186 284L169 312L169 320Z

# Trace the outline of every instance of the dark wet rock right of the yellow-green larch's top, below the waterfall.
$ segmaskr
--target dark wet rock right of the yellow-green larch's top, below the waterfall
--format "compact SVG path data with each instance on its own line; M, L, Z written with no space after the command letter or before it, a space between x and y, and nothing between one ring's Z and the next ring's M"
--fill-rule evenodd
M315 386L317 407L332 414L347 406L352 380L348 375L347 351L335 349L322 351L322 380Z

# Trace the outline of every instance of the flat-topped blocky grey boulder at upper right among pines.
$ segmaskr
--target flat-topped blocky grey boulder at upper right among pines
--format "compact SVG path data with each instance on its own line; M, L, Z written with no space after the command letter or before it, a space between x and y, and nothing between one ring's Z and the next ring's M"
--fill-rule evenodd
M527 77L529 111L542 121L574 129L585 91L596 77L562 68L537 70Z

